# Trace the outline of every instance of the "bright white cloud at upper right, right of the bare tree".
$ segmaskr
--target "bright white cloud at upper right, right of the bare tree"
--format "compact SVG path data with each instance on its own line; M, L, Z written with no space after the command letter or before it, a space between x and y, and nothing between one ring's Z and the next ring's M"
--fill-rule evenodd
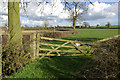
M118 3L106 4L96 1L89 5L88 13L84 14L86 20L97 20L114 17L118 14Z

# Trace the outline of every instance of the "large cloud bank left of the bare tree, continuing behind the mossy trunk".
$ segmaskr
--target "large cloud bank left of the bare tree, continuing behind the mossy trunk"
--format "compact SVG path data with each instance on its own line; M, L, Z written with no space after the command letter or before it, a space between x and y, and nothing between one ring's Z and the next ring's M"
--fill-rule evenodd
M3 17L8 15L8 3L0 3L0 16L2 22L5 21ZM43 20L48 20L52 24L59 23L64 19L68 19L69 12L64 10L64 5L61 0L52 0L51 3L30 2L27 7L24 8L20 5L20 15L22 25L41 25ZM26 13L25 13L26 11ZM28 16L28 17L27 17ZM54 22L56 20L56 22Z

